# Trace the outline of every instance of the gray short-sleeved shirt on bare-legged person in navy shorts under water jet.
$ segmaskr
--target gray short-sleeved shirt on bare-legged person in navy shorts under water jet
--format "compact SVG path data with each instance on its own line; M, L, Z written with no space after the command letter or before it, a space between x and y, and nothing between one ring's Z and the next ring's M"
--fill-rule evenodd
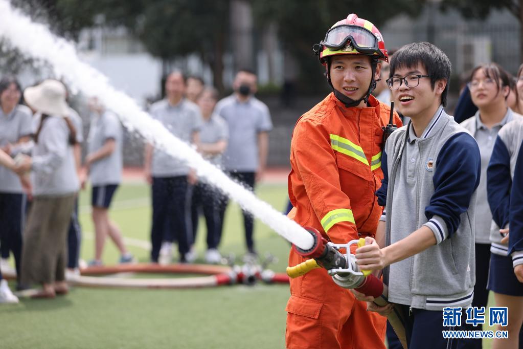
M122 126L118 117L106 110L91 120L88 152L98 151L109 139L115 140L115 150L89 168L89 179L93 186L120 184L122 181Z

